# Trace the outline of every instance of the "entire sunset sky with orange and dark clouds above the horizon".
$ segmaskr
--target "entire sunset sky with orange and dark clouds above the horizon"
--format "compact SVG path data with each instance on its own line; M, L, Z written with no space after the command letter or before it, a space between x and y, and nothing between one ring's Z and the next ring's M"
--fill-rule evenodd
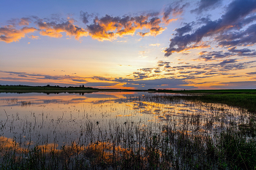
M256 88L255 0L2 0L0 85Z

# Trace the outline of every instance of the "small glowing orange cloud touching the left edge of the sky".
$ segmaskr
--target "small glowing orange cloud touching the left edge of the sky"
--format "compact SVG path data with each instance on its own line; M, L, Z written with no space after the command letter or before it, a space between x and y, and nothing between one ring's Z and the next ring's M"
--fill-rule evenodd
M0 41L2 42L18 42L21 38L25 37L26 34L37 31L33 27L23 27L21 29L10 28L10 27L1 27L0 28Z

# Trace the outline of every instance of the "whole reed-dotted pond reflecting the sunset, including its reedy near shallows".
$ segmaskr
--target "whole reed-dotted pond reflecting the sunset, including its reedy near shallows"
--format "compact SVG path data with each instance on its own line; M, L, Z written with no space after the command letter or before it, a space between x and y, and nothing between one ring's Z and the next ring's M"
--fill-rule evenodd
M219 169L218 160L226 160L216 151L219 134L248 124L252 115L225 104L186 101L178 96L182 95L100 91L1 93L0 155L8 157L6 153L15 150L14 162L20 158L20 166L37 147L43 150L40 154L44 160L44 154L50 154L48 161L32 160L39 169L58 164L51 162L56 153L65 158L61 166L58 164L59 169L72 169L70 162L91 169L135 166L129 163L138 163L136 166L143 169L154 165ZM209 147L214 148L210 153ZM12 159L9 156L5 163ZM1 162L4 160L0 158Z

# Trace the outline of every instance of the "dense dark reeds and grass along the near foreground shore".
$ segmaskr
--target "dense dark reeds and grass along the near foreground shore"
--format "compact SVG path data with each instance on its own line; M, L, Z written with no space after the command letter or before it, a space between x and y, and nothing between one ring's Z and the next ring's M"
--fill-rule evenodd
M124 127L123 127L124 128ZM255 169L256 142L241 131L227 129L220 135L191 136L162 126L165 133L113 131L110 142L72 144L61 150L34 147L23 152L9 150L1 158L1 169ZM149 129L148 129L149 130ZM117 133L118 132L118 133ZM142 136L142 133L146 136ZM138 137L140 135L140 137ZM126 145L126 147L124 147ZM121 147L123 146L123 147Z

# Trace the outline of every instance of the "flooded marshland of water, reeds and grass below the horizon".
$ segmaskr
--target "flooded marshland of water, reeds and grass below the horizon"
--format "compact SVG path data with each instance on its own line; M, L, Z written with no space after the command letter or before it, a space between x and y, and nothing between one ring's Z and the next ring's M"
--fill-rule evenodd
M188 91L7 93L0 168L255 169L255 90Z

